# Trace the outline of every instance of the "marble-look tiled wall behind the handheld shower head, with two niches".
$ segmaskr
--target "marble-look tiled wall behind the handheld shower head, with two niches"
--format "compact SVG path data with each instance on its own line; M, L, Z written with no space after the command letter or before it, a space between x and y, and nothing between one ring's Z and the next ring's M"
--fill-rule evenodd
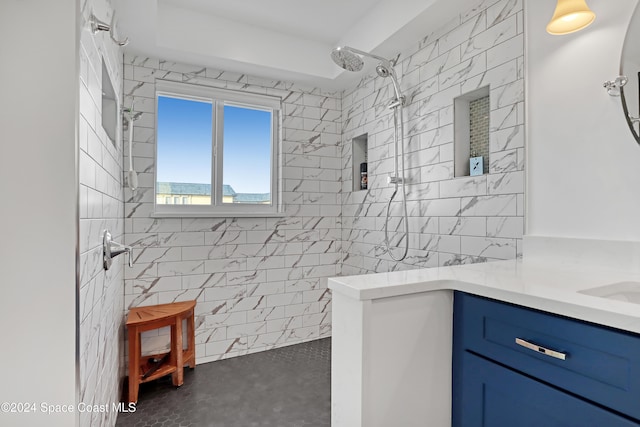
M343 97L343 274L515 258L524 215L522 0L485 0L427 35L396 66L404 108L409 254L385 251L393 171L390 79L368 76ZM489 173L454 178L453 99L490 87ZM368 134L369 188L352 192L351 141ZM399 196L396 200L401 200ZM401 207L389 222L404 246ZM394 232L396 230L397 232ZM396 257L402 249L393 249Z

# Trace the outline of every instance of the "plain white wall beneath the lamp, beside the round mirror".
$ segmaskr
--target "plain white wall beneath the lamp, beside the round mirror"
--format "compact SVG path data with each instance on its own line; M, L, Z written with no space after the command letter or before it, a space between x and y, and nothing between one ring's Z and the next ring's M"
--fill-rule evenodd
M545 31L555 0L525 3L527 234L640 240L640 146L602 87L637 0L590 0L596 21L565 36Z

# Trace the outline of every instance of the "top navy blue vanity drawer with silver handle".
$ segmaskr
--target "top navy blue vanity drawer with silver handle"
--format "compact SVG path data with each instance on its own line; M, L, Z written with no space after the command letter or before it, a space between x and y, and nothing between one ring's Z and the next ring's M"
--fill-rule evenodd
M460 292L454 311L456 351L640 420L640 336Z

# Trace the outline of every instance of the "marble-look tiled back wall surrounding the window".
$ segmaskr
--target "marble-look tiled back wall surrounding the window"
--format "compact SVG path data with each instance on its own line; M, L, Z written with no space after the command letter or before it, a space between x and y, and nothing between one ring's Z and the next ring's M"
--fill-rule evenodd
M156 79L283 99L284 217L152 217ZM340 94L129 55L124 94L143 112L133 144L140 188L125 190L135 248L125 309L196 299L199 363L328 336L326 278L340 274ZM143 335L143 351L167 348L167 334Z

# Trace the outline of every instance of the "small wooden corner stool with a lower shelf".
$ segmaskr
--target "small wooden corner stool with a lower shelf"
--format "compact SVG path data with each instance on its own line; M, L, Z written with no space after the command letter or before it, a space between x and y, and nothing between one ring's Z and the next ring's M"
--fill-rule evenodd
M129 402L138 401L140 384L171 374L174 386L184 383L183 368L196 366L193 312L195 301L136 307L129 310ZM182 348L182 321L187 319L187 348ZM171 326L169 353L141 356L140 333Z

